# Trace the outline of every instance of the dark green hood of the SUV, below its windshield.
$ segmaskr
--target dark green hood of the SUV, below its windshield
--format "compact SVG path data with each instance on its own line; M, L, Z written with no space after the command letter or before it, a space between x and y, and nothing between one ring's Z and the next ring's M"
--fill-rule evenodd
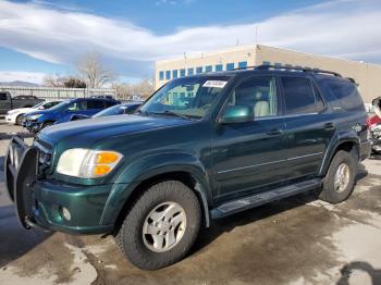
M90 142L118 135L192 123L194 121L165 116L111 115L52 125L42 129L38 136L53 145L69 138Z

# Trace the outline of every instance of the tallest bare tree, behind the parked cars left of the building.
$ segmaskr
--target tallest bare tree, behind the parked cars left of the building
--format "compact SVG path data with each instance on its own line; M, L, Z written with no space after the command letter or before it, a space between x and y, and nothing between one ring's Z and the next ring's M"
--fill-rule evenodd
M86 53L78 62L77 70L89 88L100 88L114 79L114 74L102 65L97 52Z

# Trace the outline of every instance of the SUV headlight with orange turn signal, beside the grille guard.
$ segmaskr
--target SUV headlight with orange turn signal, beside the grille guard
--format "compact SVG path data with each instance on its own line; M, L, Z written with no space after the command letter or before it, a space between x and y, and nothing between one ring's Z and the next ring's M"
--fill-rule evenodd
M81 178L97 178L109 174L123 156L116 151L73 148L63 152L57 172Z

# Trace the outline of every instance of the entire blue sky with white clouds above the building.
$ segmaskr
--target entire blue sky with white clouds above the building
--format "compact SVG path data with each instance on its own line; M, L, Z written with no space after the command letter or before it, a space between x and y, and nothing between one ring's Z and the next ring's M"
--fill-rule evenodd
M123 79L155 60L259 44L381 63L379 0L0 0L0 80L75 73L96 51Z

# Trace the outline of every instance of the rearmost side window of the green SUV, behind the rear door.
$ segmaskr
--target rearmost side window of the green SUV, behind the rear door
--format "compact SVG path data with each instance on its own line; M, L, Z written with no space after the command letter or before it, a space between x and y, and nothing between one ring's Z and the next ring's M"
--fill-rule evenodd
M346 111L358 111L364 109L361 97L356 86L348 80L330 79L324 85Z

